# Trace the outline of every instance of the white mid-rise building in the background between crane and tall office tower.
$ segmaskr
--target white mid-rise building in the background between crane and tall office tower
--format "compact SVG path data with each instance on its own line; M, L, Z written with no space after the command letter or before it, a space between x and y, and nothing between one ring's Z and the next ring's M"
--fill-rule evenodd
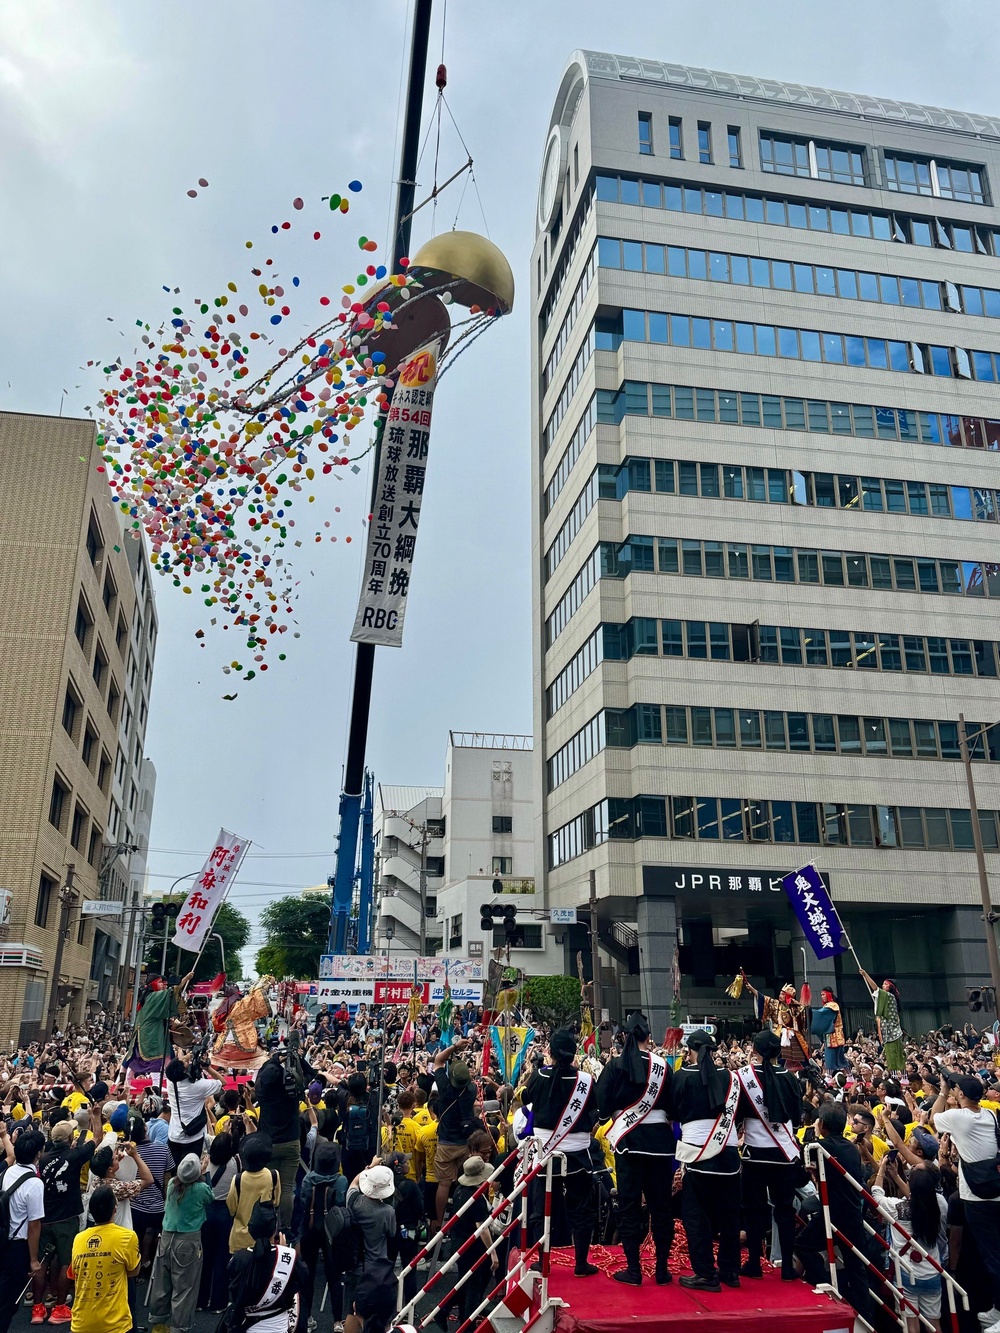
M487 936L480 909L513 904L524 946L511 950L511 965L536 976L564 970L564 952L535 892L532 782L529 736L449 732L444 786L379 784L376 944L388 941L391 926L393 954L419 953L424 857L428 953L489 957L503 946L504 928L497 917Z

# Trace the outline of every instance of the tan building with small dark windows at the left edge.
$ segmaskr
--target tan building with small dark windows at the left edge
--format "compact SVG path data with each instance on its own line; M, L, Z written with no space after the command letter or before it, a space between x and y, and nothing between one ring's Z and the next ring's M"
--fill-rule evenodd
M100 465L92 421L0 413L0 1042L113 1008L127 984L156 609Z

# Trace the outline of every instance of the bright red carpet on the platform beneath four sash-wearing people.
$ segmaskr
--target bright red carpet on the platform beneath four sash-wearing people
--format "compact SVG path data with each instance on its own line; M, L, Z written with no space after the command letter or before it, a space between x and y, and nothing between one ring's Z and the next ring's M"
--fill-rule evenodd
M573 1277L572 1252L553 1250L549 1292L564 1300L556 1320L559 1333L851 1333L855 1314L827 1296L815 1296L805 1282L783 1282L776 1272L763 1280L743 1278L739 1290L688 1292L677 1285L656 1286L652 1276L641 1286L624 1286L605 1276L621 1268L621 1250L591 1249L597 1277ZM565 1256L565 1257L564 1257ZM644 1256L645 1257L645 1256ZM645 1269L647 1265L644 1264Z

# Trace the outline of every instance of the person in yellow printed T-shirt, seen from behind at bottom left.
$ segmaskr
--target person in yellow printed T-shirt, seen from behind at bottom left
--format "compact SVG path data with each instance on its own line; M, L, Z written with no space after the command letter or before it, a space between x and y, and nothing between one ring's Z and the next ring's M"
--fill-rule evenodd
M128 1333L128 1280L139 1272L139 1237L112 1218L117 1204L108 1185L91 1194L95 1225L73 1238L69 1277L76 1284L72 1333Z

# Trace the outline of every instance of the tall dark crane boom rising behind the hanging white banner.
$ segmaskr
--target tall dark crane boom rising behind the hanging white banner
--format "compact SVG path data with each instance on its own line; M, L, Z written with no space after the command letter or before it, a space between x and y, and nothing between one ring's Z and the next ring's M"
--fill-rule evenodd
M392 229L392 272L409 252L411 220L416 197L416 167L420 155L420 113L427 79L427 48L431 37L431 0L416 0L413 7L413 33L409 45L409 79L407 81L407 108L403 119L403 148L399 180L396 181L396 216ZM381 432L385 416L376 425L372 455L372 503L376 509ZM333 904L329 922L329 952L347 953L347 922L353 897L355 861L357 858L357 830L361 816L364 784L364 753L368 744L368 716L372 706L372 676L375 673L375 645L357 644L355 655L355 682L351 697L351 724L347 737L344 789L340 793L340 842L333 878Z

